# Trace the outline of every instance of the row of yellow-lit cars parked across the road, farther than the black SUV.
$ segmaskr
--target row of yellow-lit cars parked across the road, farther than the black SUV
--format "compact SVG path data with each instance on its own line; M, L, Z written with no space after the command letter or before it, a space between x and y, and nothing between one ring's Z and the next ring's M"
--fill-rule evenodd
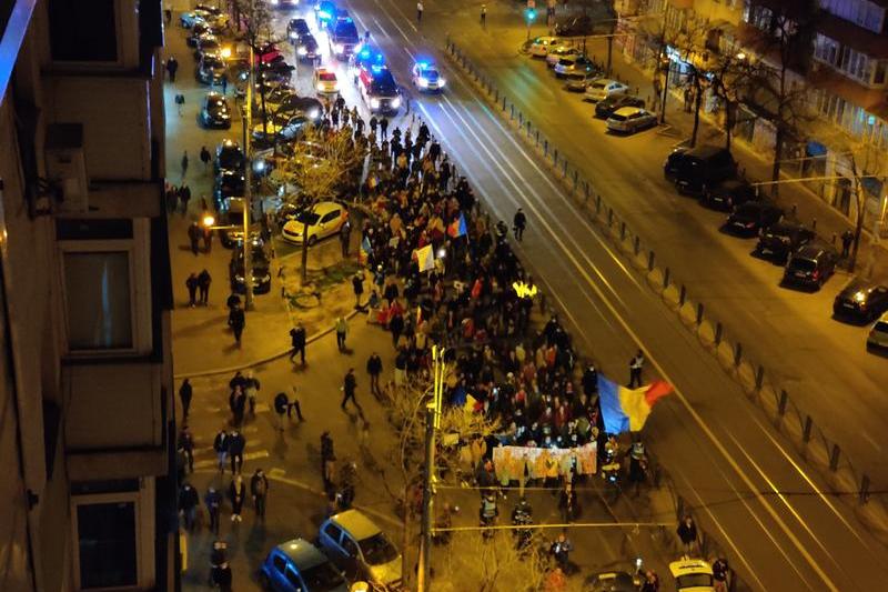
M566 79L565 90L582 92L584 101L596 103L594 117L604 119L609 132L632 134L657 124L657 116L645 109L643 99L629 94L626 83L607 78L572 41L562 37L537 37L528 52L545 58L555 77Z

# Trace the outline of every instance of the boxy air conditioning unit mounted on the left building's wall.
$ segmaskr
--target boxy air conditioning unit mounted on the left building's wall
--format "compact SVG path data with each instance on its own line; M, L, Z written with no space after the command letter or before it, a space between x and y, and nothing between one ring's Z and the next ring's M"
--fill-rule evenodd
M89 210L89 180L83 154L82 123L50 123L47 126L47 180L56 188L57 211Z

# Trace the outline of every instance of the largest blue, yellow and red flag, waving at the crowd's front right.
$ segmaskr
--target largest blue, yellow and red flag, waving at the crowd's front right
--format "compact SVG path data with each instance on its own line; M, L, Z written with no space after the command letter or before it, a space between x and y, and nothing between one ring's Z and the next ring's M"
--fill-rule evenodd
M655 380L647 387L629 389L598 374L602 419L607 433L638 432L660 398L673 392L673 385Z

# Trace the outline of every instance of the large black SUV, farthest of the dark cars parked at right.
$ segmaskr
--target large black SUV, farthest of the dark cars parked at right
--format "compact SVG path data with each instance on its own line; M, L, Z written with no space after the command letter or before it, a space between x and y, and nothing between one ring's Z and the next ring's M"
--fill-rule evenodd
M679 148L663 165L666 179L675 182L682 193L699 194L706 189L737 174L737 162L730 151L714 146Z

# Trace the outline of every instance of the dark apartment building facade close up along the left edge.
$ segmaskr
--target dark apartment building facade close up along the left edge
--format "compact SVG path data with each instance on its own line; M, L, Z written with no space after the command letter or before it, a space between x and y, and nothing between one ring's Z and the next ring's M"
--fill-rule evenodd
M0 27L0 590L174 590L162 6Z

